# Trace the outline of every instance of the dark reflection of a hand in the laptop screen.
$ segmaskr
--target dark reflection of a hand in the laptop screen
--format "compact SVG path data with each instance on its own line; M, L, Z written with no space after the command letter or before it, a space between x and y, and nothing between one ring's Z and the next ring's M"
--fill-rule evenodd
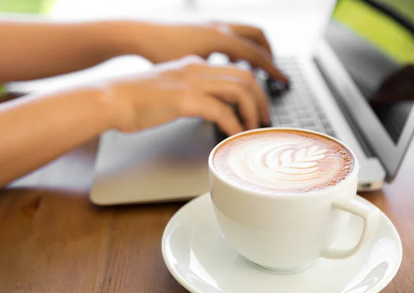
M388 77L373 96L376 106L414 100L414 65L410 64Z

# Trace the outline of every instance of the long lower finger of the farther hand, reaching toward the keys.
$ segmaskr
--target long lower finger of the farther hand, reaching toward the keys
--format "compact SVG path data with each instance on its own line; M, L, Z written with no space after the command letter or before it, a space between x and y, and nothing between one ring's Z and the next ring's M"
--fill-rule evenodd
M279 79L288 84L288 78L273 65L271 60L266 58L264 49L252 41L222 35L222 39L219 40L219 52L228 55L230 59L246 60L253 67L266 70L273 79Z

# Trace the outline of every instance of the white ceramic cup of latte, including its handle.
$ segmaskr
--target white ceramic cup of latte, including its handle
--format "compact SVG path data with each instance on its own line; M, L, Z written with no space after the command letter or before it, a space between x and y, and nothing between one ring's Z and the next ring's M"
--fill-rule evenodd
M213 210L233 248L261 270L297 272L319 257L357 253L380 211L355 201L358 160L344 144L301 129L255 129L208 158ZM331 247L351 214L364 219L357 245ZM255 266L255 267L257 267Z

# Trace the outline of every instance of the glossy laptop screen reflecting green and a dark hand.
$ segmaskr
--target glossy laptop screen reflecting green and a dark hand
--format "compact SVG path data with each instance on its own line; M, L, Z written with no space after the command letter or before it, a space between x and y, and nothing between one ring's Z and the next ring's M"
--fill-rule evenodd
M397 145L414 104L414 1L339 0L326 40Z

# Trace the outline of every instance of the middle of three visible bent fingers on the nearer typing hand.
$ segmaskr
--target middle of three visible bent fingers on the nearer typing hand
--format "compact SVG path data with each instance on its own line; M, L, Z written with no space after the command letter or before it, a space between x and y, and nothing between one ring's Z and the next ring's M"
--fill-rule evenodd
M237 105L245 129L259 128L259 105L257 99L240 79L202 78L197 88L208 95L214 95L228 104Z

